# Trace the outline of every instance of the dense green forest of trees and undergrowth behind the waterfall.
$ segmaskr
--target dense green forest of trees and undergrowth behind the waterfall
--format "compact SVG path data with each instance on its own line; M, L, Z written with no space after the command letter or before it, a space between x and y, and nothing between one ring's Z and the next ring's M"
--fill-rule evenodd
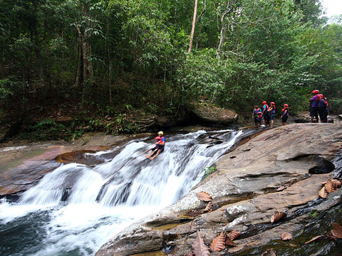
M312 90L342 112L342 17L319 0L0 1L0 125L7 137L140 132L192 102L291 114Z

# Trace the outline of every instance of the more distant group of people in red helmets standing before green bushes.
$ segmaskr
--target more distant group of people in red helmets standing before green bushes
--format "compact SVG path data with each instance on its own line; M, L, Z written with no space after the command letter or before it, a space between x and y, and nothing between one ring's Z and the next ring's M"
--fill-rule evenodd
M289 114L290 114L289 105L284 104L284 108L281 110L281 123L283 125L287 124L287 119L289 117ZM274 104L274 102L270 102L270 105L267 105L266 100L262 102L261 108L258 105L256 105L252 113L252 118L254 118L255 126L273 127L275 116L276 116L276 105Z

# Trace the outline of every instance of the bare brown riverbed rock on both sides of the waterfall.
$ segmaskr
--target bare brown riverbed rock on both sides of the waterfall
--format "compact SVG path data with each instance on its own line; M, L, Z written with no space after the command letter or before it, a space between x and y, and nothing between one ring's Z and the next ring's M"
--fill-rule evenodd
M187 196L108 238L96 255L191 255L198 236L209 247L217 235L233 230L240 234L235 245L212 255L261 255L273 248L278 255L338 255L339 238L305 242L328 234L334 221L342 224L342 189L318 196L323 183L341 178L341 128L341 123L290 124L262 130L222 156L217 171ZM78 152L109 149L127 139L131 137L96 134L73 144L3 146L0 195L15 197L61 162L84 161ZM202 191L212 197L209 210L197 197ZM285 213L284 218L271 222L276 212ZM283 242L283 233L294 238Z

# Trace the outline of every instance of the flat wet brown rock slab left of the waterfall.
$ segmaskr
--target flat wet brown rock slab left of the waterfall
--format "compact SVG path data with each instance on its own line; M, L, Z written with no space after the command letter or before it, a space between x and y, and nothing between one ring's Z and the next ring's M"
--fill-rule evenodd
M104 159L86 158L85 154L105 149L108 146L31 144L3 147L0 149L0 197L17 198L19 193L36 185L63 162L79 161L88 165L103 162ZM74 179L70 178L71 183ZM64 198L68 197L70 187L65 184Z

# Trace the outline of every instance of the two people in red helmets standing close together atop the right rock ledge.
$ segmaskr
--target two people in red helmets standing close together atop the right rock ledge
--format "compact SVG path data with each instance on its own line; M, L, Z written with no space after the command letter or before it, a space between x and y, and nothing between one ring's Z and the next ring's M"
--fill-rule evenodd
M323 96L323 94L319 93L319 90L313 90L311 92L311 99L310 102L310 122L314 122L314 119L316 119L316 122L318 121L318 115L319 119L321 119L321 122L328 122L328 113L329 113L329 104L326 97Z

